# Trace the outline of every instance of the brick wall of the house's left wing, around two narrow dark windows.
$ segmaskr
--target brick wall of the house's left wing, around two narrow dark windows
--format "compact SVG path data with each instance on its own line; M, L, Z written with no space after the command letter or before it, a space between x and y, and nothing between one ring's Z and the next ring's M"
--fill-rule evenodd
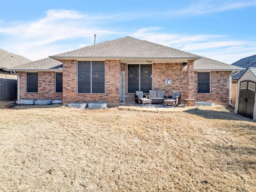
M20 100L22 99L61 99L62 93L55 93L55 72L38 72L38 93L26 93L26 72L20 75Z

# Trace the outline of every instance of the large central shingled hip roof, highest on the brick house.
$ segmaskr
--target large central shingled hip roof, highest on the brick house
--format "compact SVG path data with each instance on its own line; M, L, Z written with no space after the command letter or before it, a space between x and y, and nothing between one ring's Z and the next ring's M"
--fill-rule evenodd
M201 56L168 46L124 37L77 50L49 56L50 58L201 58Z

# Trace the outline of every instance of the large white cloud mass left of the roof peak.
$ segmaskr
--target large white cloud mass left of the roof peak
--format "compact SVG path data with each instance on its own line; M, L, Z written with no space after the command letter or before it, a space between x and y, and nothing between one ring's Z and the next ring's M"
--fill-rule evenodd
M111 17L90 16L74 10L48 10L44 18L21 22L21 24L15 22L7 27L0 27L0 33L6 35L1 42L1 47L31 60L45 58L48 55L72 50L74 47L80 48L81 43L90 45L94 41L95 33L101 38L122 34L122 32L97 25L98 20ZM83 39L83 42L77 46L58 43L79 38Z

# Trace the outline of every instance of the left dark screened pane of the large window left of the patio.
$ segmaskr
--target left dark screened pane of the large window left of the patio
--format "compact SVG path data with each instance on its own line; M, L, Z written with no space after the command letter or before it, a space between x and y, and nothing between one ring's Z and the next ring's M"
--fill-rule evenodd
M91 62L90 61L78 61L77 91L78 93L91 92Z

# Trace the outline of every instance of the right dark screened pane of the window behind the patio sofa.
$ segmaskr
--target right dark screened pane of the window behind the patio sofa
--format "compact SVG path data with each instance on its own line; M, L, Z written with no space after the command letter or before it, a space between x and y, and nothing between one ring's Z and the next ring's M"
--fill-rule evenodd
M140 65L140 91L148 93L152 90L152 65Z

